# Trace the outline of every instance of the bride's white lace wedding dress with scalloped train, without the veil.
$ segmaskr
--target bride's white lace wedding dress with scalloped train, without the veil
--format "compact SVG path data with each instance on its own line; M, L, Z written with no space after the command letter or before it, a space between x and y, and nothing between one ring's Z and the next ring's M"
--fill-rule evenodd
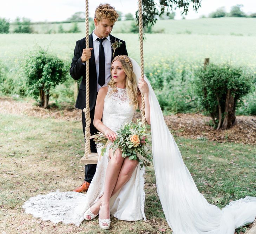
M109 86L104 99L103 123L116 132L123 123L130 122L134 109L129 104L130 99L126 89L117 88L116 92ZM98 154L100 155L100 149ZM52 192L30 198L22 206L25 212L42 220L53 223L74 223L79 226L84 220L84 212L103 195L106 168L109 162L109 146L106 153L100 157L96 173L87 194L77 192ZM110 199L110 214L117 219L132 221L146 220L144 213L144 167L137 165L131 179Z

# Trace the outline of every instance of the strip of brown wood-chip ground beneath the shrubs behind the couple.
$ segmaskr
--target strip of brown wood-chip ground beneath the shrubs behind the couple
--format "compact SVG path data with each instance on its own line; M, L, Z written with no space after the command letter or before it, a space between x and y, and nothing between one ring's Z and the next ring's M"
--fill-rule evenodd
M67 121L81 120L81 110L75 108L44 109L33 106L33 101L15 101L0 97L0 113L54 118ZM140 118L140 113L133 120ZM172 134L198 140L256 144L256 116L237 116L235 125L228 130L213 130L210 117L202 114L176 114L164 116Z

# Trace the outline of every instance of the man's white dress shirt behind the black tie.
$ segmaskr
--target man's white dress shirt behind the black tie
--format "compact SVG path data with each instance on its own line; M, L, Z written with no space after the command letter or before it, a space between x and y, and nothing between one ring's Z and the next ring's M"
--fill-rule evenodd
M92 32L92 40L93 40L93 52L96 64L96 73L97 73L97 92L101 87L107 86L107 83L110 81L110 68L111 68L111 43L110 37L108 36L103 42L104 54L105 54L105 84L103 86L99 85L99 41L97 41L98 36Z

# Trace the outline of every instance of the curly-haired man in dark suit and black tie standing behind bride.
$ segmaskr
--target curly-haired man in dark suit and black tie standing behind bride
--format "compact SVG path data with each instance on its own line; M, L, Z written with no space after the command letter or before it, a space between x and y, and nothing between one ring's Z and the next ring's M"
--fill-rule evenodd
M94 135L97 129L93 126L94 109L96 98L101 87L107 85L110 81L110 68L113 58L117 55L128 55L125 42L110 35L119 15L115 8L109 4L100 4L94 15L94 31L89 35L89 47L85 49L85 40L83 38L76 42L74 56L71 62L70 75L74 80L83 76L77 95L76 108L83 110L85 108L85 61L89 59L90 71L90 133ZM85 134L85 113L82 111L83 131ZM91 152L97 152L96 145L91 139ZM74 189L74 192L85 192L90 186L92 178L96 171L96 165L85 165L85 179L81 186Z

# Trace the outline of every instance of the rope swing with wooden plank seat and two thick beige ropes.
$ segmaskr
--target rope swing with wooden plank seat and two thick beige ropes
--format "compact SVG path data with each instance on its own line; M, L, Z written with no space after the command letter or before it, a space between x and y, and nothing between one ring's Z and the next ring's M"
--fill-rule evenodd
M139 41L140 41L140 73L141 77L144 77L144 58L143 58L143 25L142 25L142 0L138 1L139 4ZM88 14L88 0L85 0L85 33L86 38L89 38L89 14ZM89 40L86 40L85 48L89 48ZM90 139L94 136L90 134L90 107L89 107L89 60L86 60L86 107L83 109L85 113L85 152L83 158L80 159L80 163L97 164L98 153L91 153ZM144 95L142 94L142 108L140 109L142 114L142 123L146 125L145 118L145 102Z

